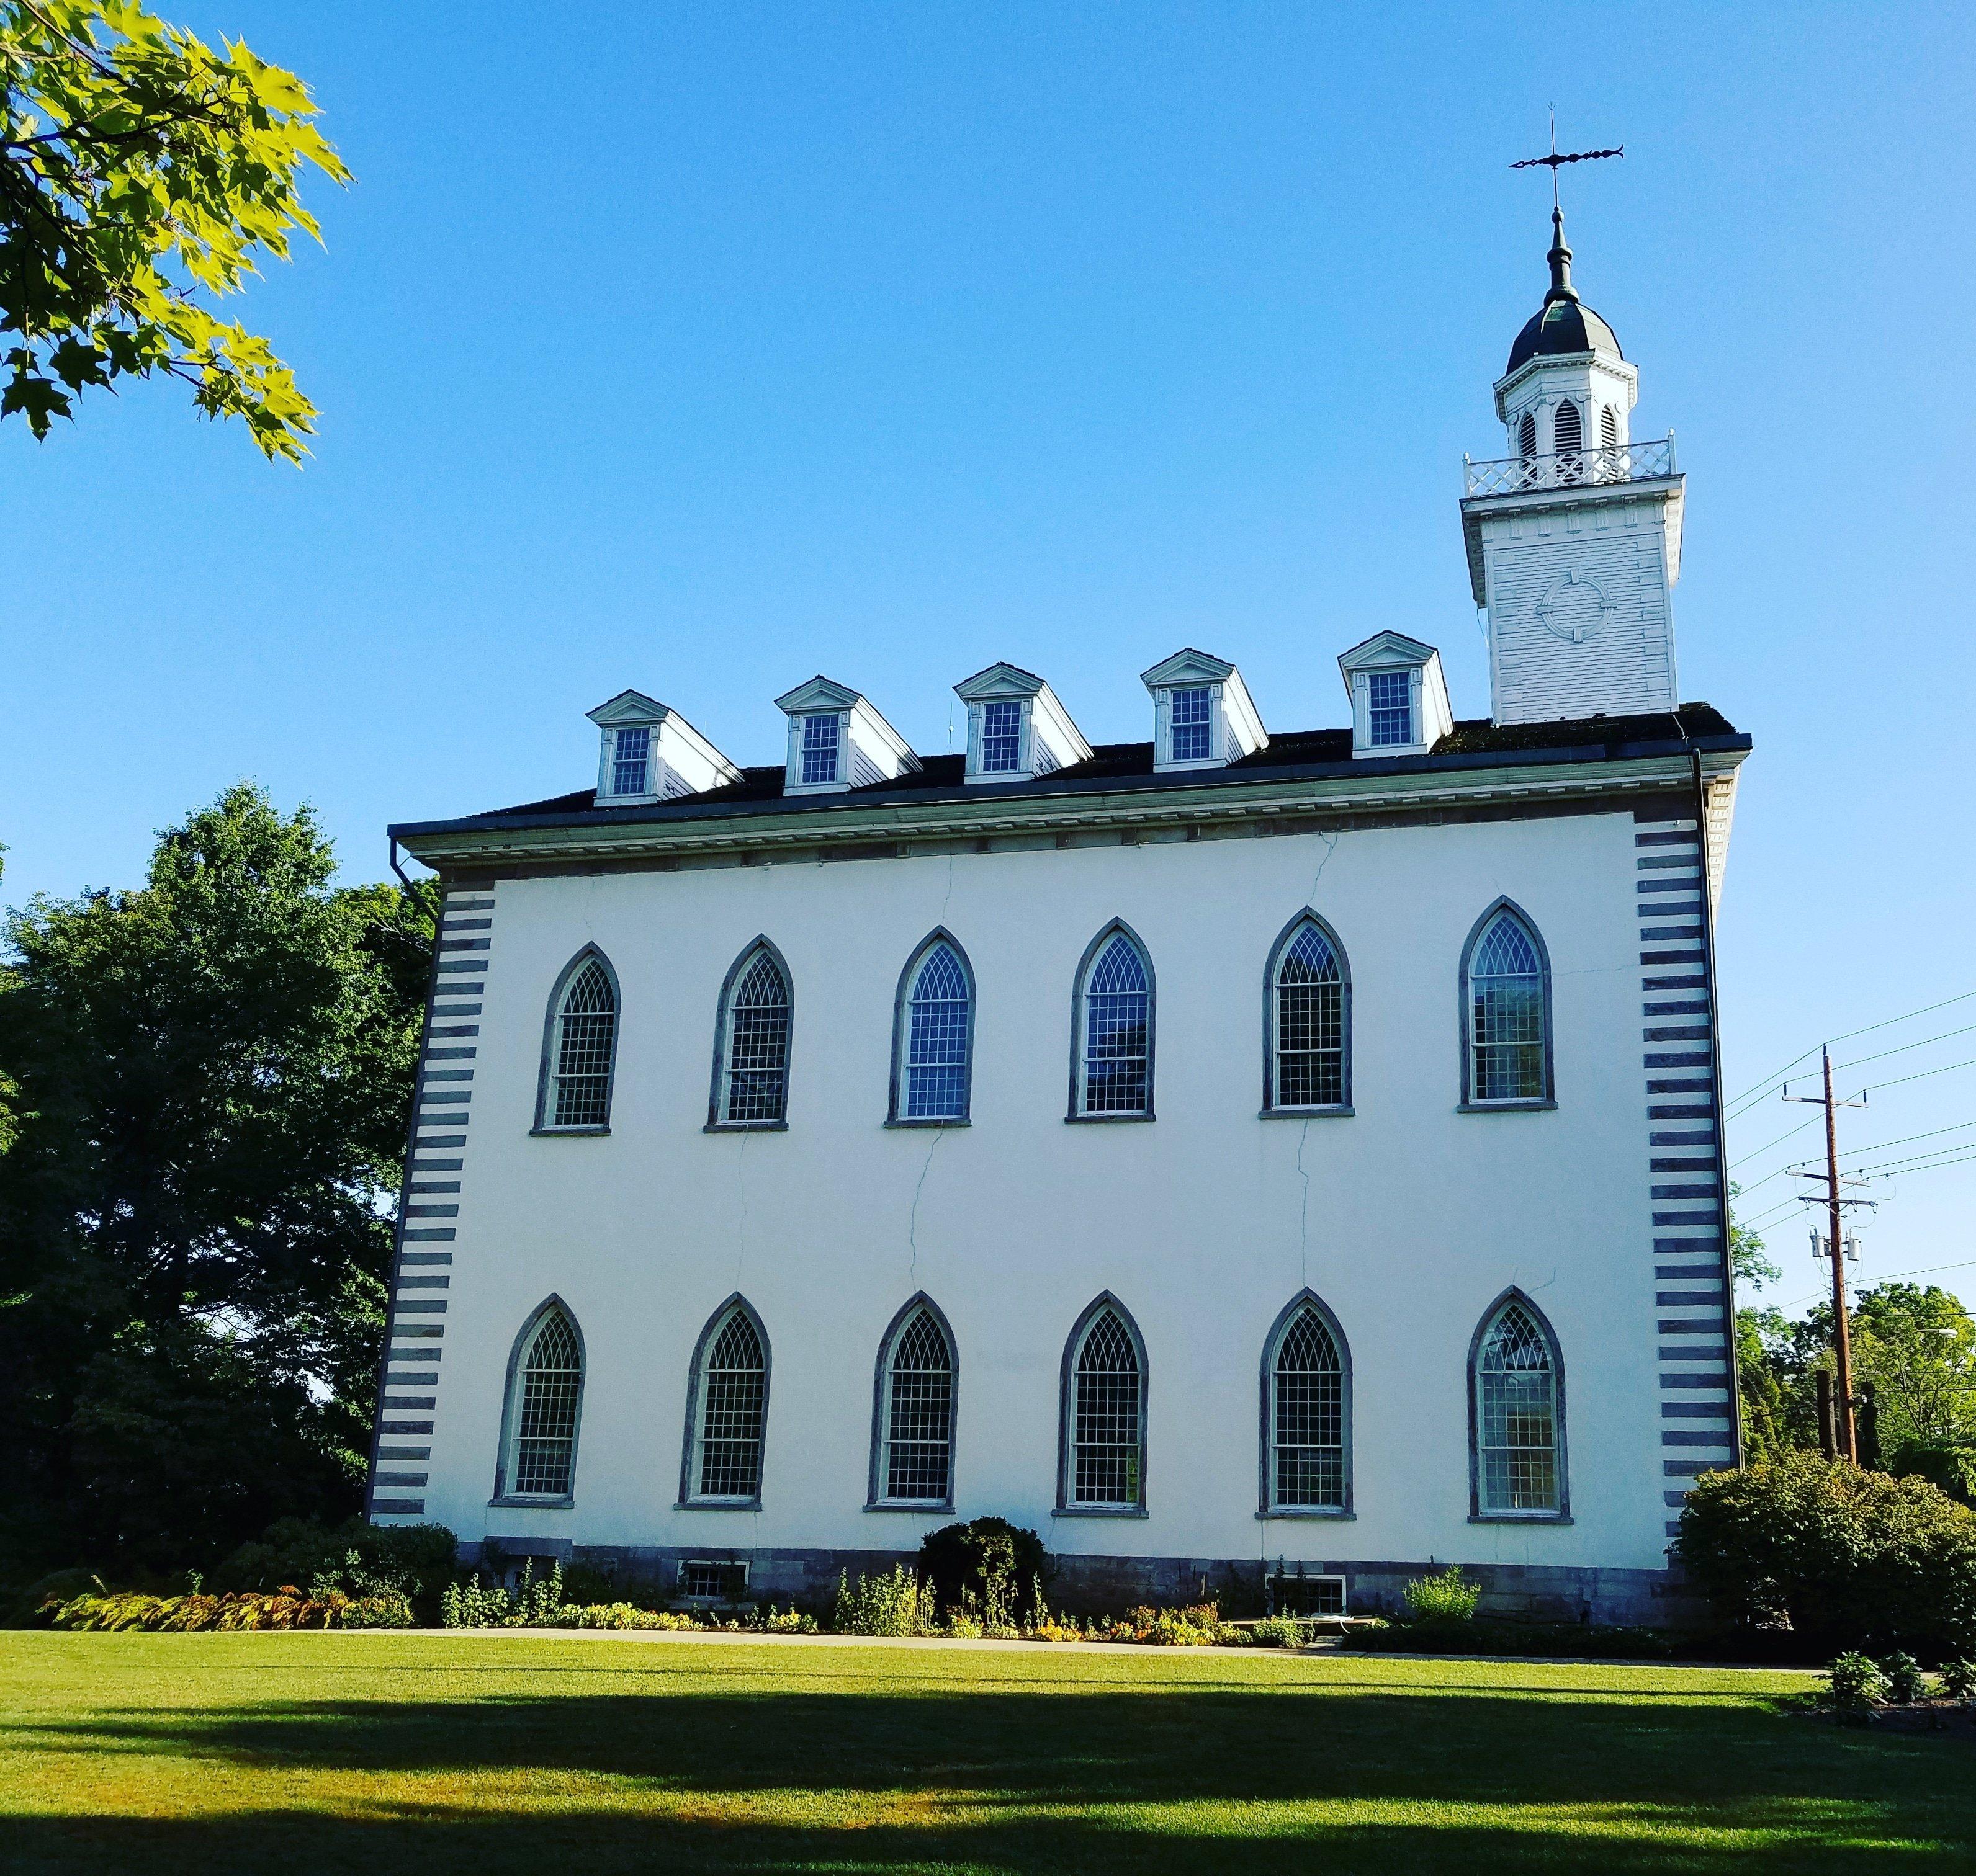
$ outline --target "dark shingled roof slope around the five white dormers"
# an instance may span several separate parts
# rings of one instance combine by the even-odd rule
[[[1684,703],[1680,711],[1656,711],[1644,717],[1571,717],[1561,723],[1508,723],[1496,725],[1486,717],[1456,723],[1433,750],[1425,756],[1385,756],[1407,768],[1433,768],[1446,758],[1514,754],[1516,750],[1585,750],[1589,760],[1610,758],[1630,744],[1680,744],[1715,737],[1735,737],[1731,725],[1707,703]],[[1361,758],[1363,760],[1363,758]],[[1221,778],[1247,780],[1263,778],[1278,770],[1310,772],[1326,764],[1354,768],[1352,731],[1348,729],[1302,729],[1271,737],[1253,756],[1229,762],[1227,768],[1184,768],[1154,774],[1150,743],[1099,743],[1091,750],[1089,762],[1073,762],[1035,782],[988,784],[1006,794],[1055,794],[1065,784],[1091,786],[1107,780],[1130,782],[1136,786],[1197,788],[1203,782]],[[864,788],[848,788],[830,796],[792,796],[790,806],[842,806],[846,802],[895,802],[911,796],[952,796],[964,786],[964,756],[923,756],[917,770],[907,770],[885,782],[867,782]],[[725,788],[709,788],[705,794],[678,796],[670,802],[642,808],[609,808],[597,802],[589,788],[575,794],[551,796],[545,802],[520,802],[514,808],[496,808],[490,814],[468,816],[470,821],[502,821],[510,816],[537,814],[583,814],[583,816],[622,816],[626,820],[664,818],[668,810],[690,808],[705,812],[721,806],[743,806],[755,802],[782,800],[782,770],[743,768],[739,782]]]

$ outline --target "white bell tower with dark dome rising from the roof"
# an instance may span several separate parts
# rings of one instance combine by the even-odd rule
[[[1684,478],[1632,440],[1640,373],[1577,296],[1551,211],[1551,288],[1496,381],[1510,454],[1464,464],[1462,537],[1488,612],[1496,723],[1672,711]]]

